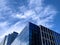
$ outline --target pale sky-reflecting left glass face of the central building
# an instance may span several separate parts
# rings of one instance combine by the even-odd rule
[[[23,31],[17,36],[11,45],[29,45],[29,26],[27,25]]]

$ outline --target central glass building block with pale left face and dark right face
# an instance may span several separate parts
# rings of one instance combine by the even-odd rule
[[[40,28],[28,23],[11,45],[41,45]]]

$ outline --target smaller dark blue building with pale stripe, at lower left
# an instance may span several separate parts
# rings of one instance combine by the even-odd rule
[[[11,45],[11,43],[15,40],[17,37],[18,33],[13,32],[12,34],[6,35],[0,45]]]

